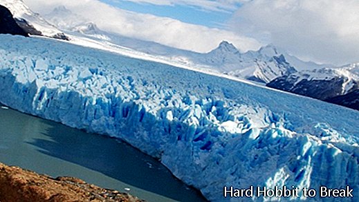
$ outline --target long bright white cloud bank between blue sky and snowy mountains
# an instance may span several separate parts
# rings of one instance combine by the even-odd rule
[[[167,17],[129,12],[97,0],[25,0],[25,3],[35,12],[42,14],[64,5],[90,19],[102,30],[201,53],[216,48],[222,40],[232,42],[242,51],[254,50],[260,46],[255,39],[227,30],[187,24]]]

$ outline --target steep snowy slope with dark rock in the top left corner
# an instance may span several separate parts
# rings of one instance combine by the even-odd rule
[[[62,31],[48,23],[39,14],[33,12],[22,0],[0,0],[0,5],[11,12],[17,24],[30,35],[43,35],[57,39],[68,39]]]

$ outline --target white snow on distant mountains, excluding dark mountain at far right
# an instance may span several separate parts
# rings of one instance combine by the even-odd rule
[[[73,44],[106,49],[117,53],[142,57],[146,55],[161,59],[165,64],[175,66],[191,66],[201,71],[222,73],[241,79],[255,80],[268,83],[276,77],[292,73],[293,70],[320,68],[319,64],[303,62],[289,55],[284,50],[268,45],[258,51],[240,53],[230,42],[222,42],[210,53],[194,53],[180,50],[154,42],[144,42],[139,39],[123,37],[116,33],[107,33],[88,19],[71,12],[65,6],[59,6],[43,17],[31,11],[21,0],[0,0],[17,18],[26,19],[46,37],[66,33]],[[56,26],[53,26],[53,24]],[[60,31],[61,29],[62,31]],[[282,62],[275,57],[284,57]],[[288,62],[288,63],[287,63]],[[292,69],[293,68],[293,69]]]

